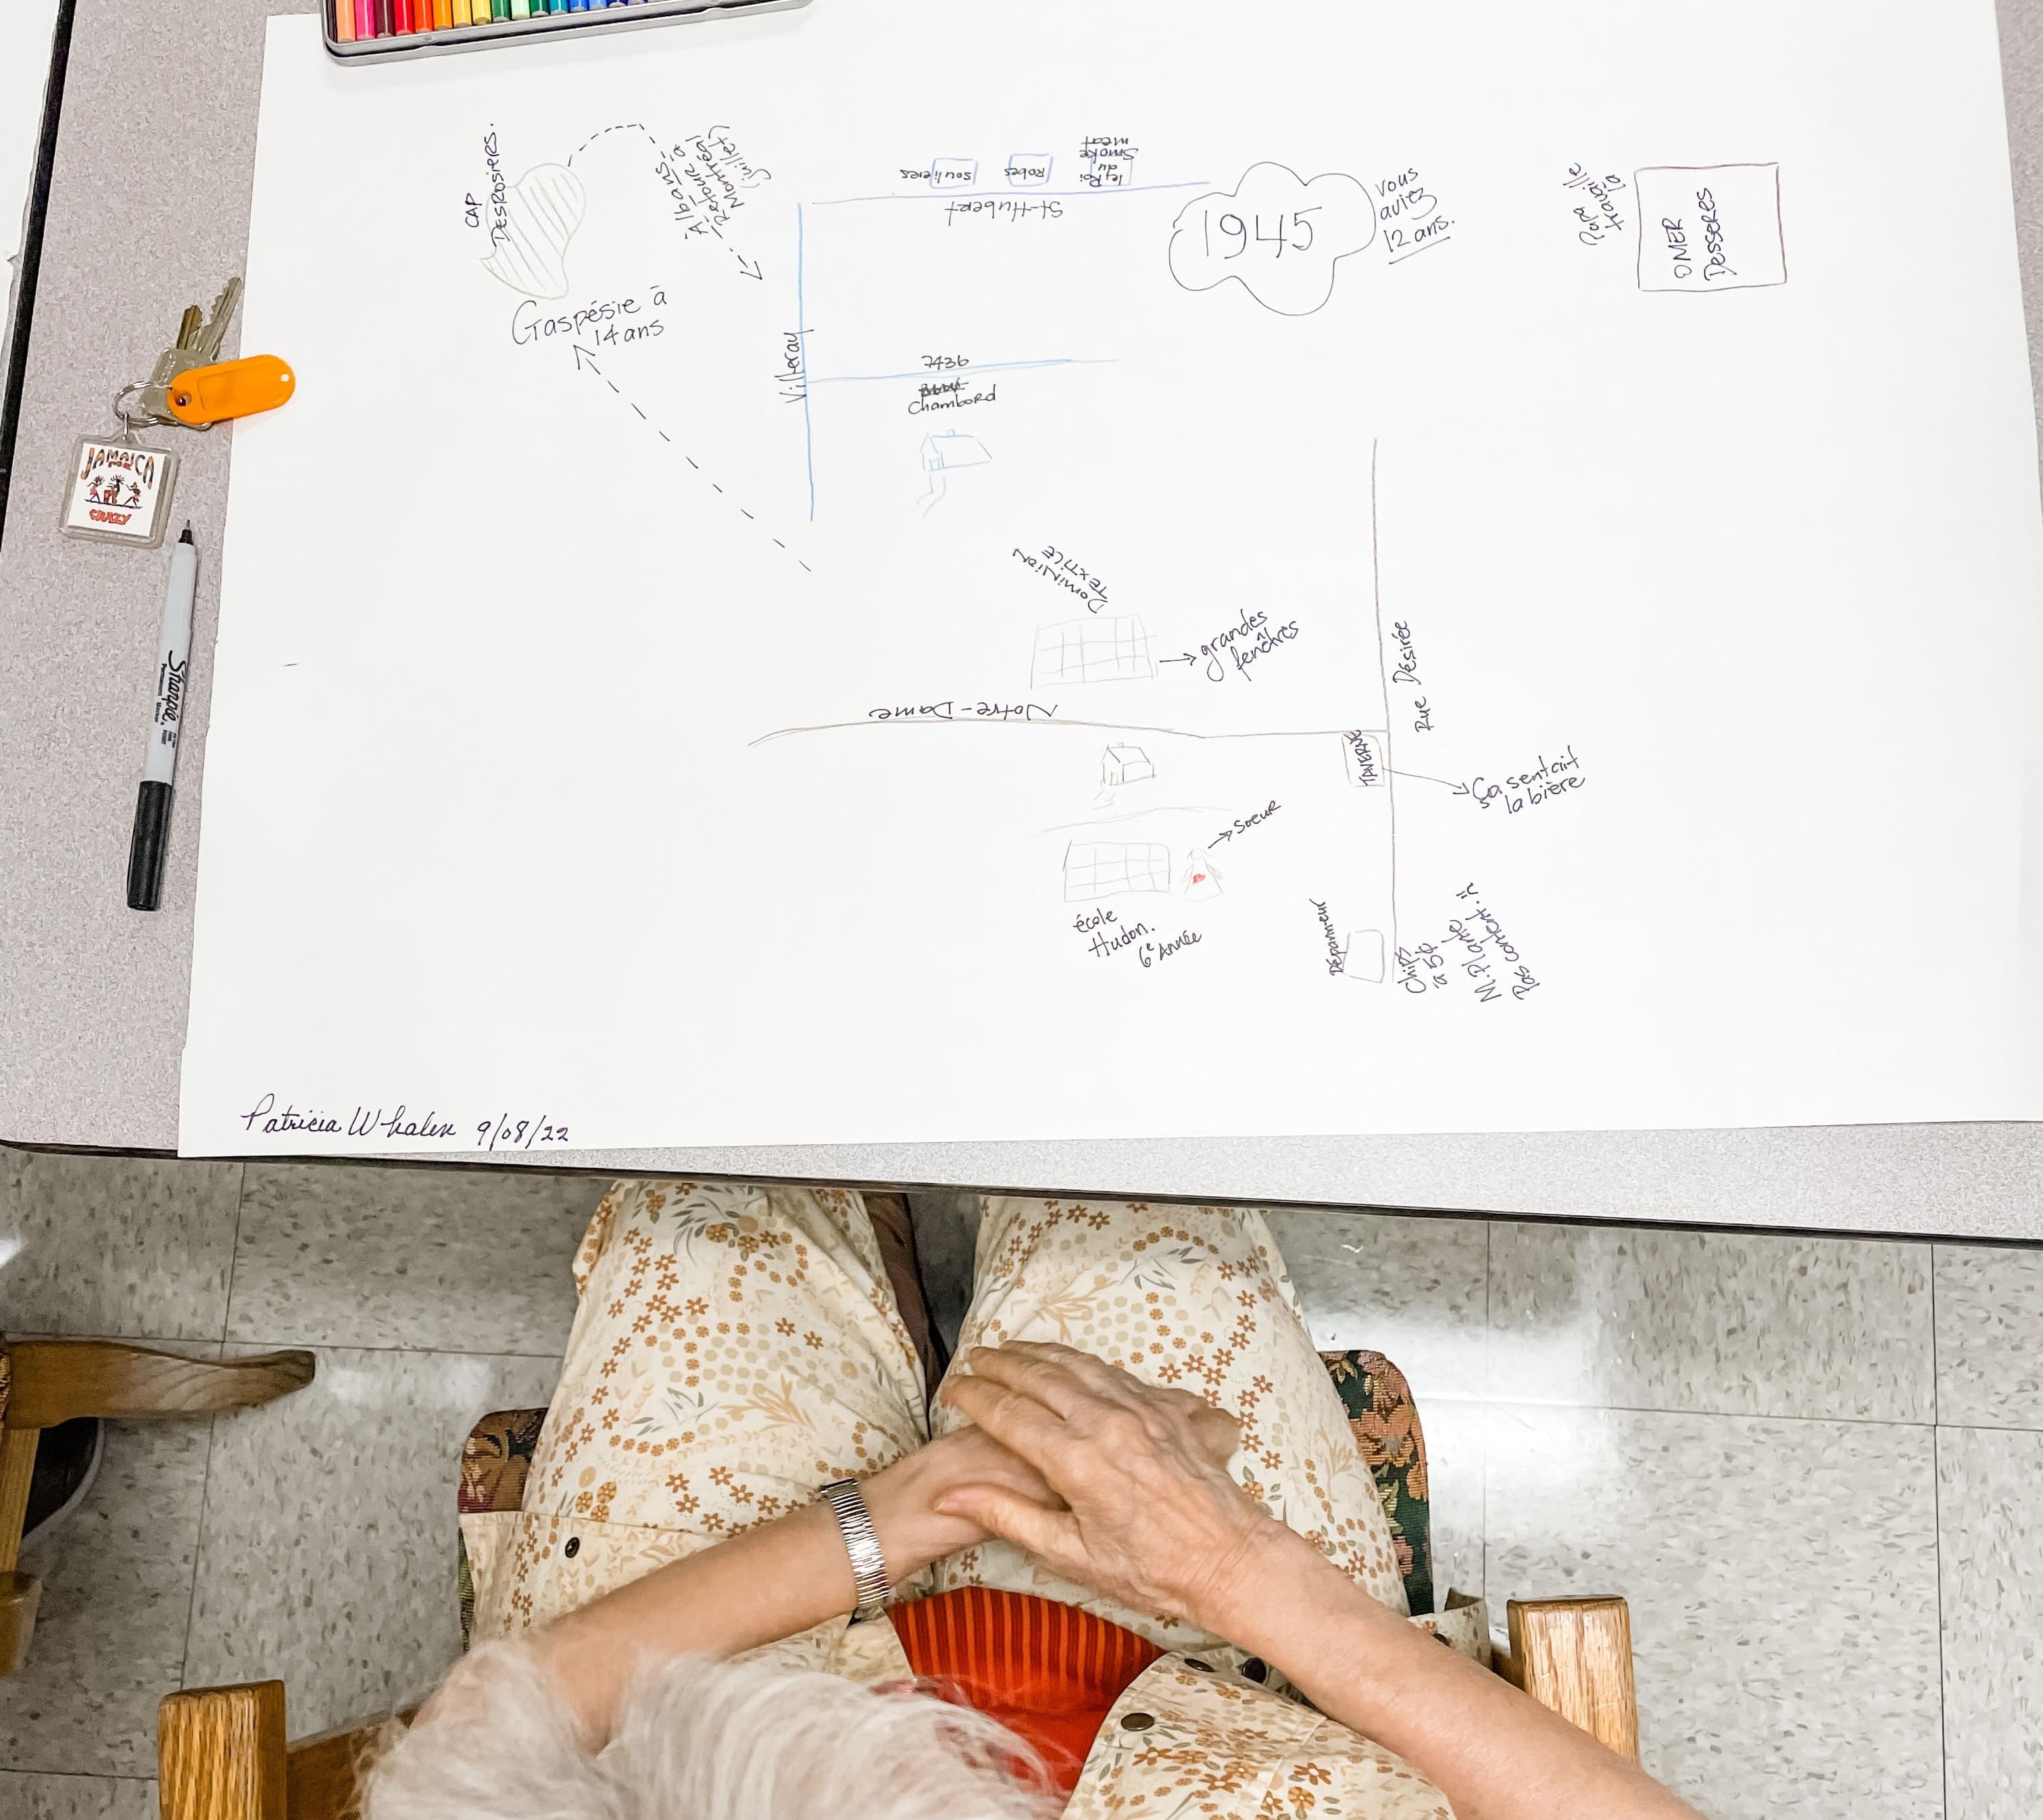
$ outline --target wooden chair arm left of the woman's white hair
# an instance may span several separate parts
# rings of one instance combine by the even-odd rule
[[[355,1820],[388,1718],[286,1744],[282,1681],[170,1693],[155,1722],[163,1820]]]

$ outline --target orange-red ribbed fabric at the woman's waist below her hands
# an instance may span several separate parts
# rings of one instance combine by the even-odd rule
[[[909,1667],[997,1718],[1042,1753],[1056,1785],[1079,1785],[1107,1710],[1162,1650],[1077,1606],[960,1587],[889,1612]]]

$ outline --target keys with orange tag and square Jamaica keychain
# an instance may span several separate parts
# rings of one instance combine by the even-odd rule
[[[210,313],[190,304],[149,378],[114,392],[121,427],[78,439],[57,525],[65,537],[153,549],[163,541],[178,456],[143,443],[141,431],[212,429],[231,417],[276,411],[296,390],[296,376],[274,353],[219,357],[239,304],[239,278],[227,280]]]

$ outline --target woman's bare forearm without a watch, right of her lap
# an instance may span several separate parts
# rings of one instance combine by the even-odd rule
[[[1395,1751],[1461,1820],[1698,1820],[1645,1771],[1387,1612],[1310,1546],[1214,1618],[1328,1718]]]

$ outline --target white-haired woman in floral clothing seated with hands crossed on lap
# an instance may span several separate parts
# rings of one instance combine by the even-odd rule
[[[1694,1820],[1408,1620],[1258,1213],[987,1201],[934,1420],[856,1193],[619,1183],[574,1271],[366,1820]]]

